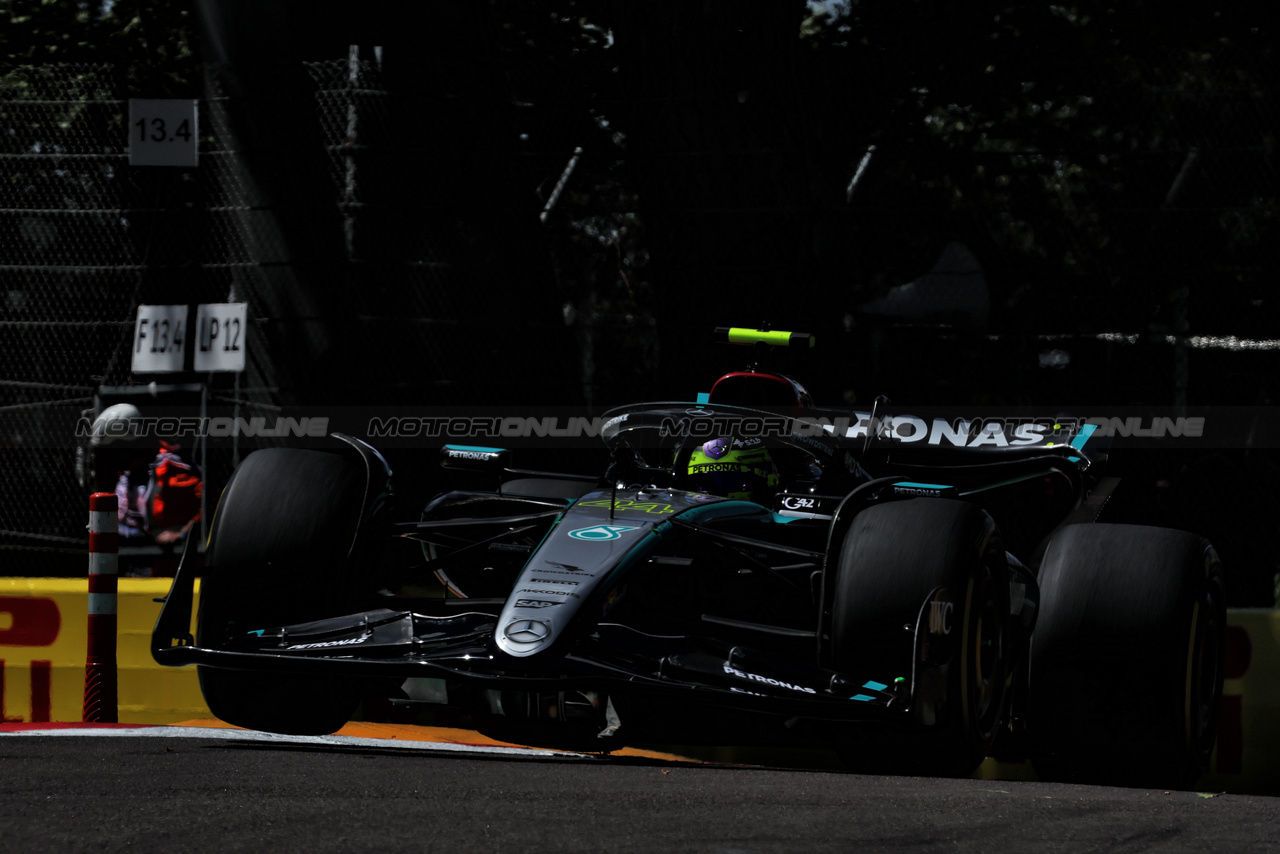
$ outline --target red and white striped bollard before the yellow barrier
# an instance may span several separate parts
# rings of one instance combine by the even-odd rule
[[[120,552],[115,493],[88,499],[88,656],[83,720],[115,723],[115,592]]]

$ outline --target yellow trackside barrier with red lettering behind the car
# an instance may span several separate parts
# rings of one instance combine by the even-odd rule
[[[210,717],[196,668],[161,667],[151,658],[151,629],[160,615],[154,599],[169,592],[169,580],[120,579],[119,585],[119,720],[175,723]],[[87,593],[84,579],[0,579],[0,722],[81,720]],[[198,606],[198,581],[196,595]],[[1217,750],[1202,790],[1280,793],[1277,676],[1280,612],[1230,611]],[[992,761],[980,775],[1030,778],[1025,766]]]

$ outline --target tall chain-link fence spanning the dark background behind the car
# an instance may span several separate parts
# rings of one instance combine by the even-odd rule
[[[434,52],[206,60],[192,169],[128,165],[110,65],[0,78],[8,572],[82,571],[92,469],[67,414],[160,406],[154,379],[246,415],[595,406],[705,391],[741,366],[708,330],[769,321],[819,334],[799,367],[827,403],[1277,392],[1261,41],[1116,55],[1052,91],[995,65],[950,104],[945,81],[851,86],[867,60],[782,42],[675,45],[659,73],[626,15],[617,41],[570,27],[556,67],[495,8]],[[890,82],[915,93],[888,104]],[[870,310],[940,257],[980,270],[980,318]],[[242,374],[132,374],[137,305],[224,301],[248,306]],[[204,449],[211,493],[251,447]],[[425,465],[397,462],[407,492]]]

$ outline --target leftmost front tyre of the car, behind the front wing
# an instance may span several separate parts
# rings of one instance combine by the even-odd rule
[[[218,506],[200,592],[197,643],[219,647],[255,629],[349,612],[348,554],[364,511],[355,458],[269,448],[236,470]],[[358,702],[356,682],[329,676],[197,667],[210,711],[251,730],[321,735]]]

